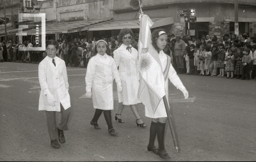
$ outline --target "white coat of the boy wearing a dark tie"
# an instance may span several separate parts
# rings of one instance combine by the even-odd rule
[[[54,57],[56,67],[52,58],[46,56],[38,66],[38,78],[41,86],[39,98],[39,110],[60,112],[60,103],[66,110],[70,107],[70,96],[68,93],[68,77],[65,62],[59,57]],[[45,94],[54,96],[54,107],[51,107]]]

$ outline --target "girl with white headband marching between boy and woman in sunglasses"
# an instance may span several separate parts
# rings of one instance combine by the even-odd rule
[[[108,124],[108,132],[112,136],[117,133],[112,125],[111,110],[114,109],[113,101],[113,78],[115,78],[118,92],[122,92],[121,79],[116,68],[113,57],[110,56],[108,43],[99,40],[95,43],[95,56],[93,56],[87,66],[86,71],[86,97],[91,98],[93,107],[96,109],[91,125],[95,129],[100,129],[97,121],[104,112],[104,117]]]

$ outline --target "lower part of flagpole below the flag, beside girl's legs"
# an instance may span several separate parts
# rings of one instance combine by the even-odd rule
[[[165,107],[165,110],[166,110],[166,114],[167,114],[167,117],[168,117],[169,126],[170,126],[171,133],[172,133],[173,144],[174,144],[174,147],[175,147],[176,151],[179,152],[180,149],[179,149],[178,140],[176,138],[175,126],[173,125],[173,122],[172,122],[172,115],[170,114],[169,105],[168,105],[168,102],[167,102],[166,95],[163,96],[163,100],[164,100],[164,107]]]

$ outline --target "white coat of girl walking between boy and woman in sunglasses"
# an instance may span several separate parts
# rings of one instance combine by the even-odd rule
[[[122,85],[115,61],[111,56],[97,54],[90,59],[85,82],[86,92],[92,92],[94,108],[114,109],[113,78],[115,78],[116,85]]]

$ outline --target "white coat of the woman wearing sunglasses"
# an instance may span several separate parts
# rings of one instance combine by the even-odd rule
[[[131,45],[130,45],[131,46]],[[118,92],[118,101],[123,105],[136,105],[140,101],[137,98],[139,89],[138,51],[122,44],[114,51],[116,66],[119,66],[119,75],[122,81],[123,91]]]

